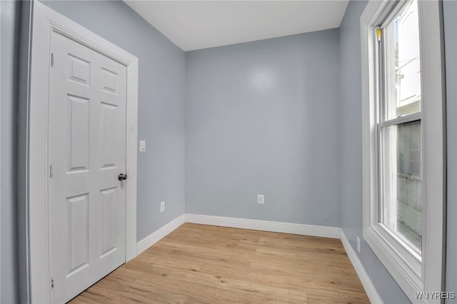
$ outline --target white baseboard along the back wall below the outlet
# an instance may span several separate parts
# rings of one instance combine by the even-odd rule
[[[244,218],[225,218],[221,216],[202,216],[199,214],[186,214],[186,223],[196,223],[231,228],[263,230],[300,235],[321,236],[323,238],[340,238],[341,228],[313,226],[294,223],[281,223],[272,221],[257,221]]]

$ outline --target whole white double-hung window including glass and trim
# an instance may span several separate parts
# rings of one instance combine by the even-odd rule
[[[415,303],[444,291],[441,22],[437,0],[369,1],[361,16],[363,237]]]

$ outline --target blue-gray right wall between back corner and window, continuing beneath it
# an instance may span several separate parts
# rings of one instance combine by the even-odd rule
[[[362,237],[362,116],[360,16],[365,1],[351,1],[340,26],[341,228],[356,250],[361,238],[363,267],[385,303],[409,300]]]

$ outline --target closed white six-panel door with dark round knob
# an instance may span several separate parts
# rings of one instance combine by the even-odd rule
[[[125,261],[126,66],[51,34],[49,265],[65,303]]]

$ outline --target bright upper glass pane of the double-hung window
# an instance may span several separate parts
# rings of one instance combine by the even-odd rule
[[[417,1],[411,1],[385,28],[386,117],[421,111],[421,66]]]

